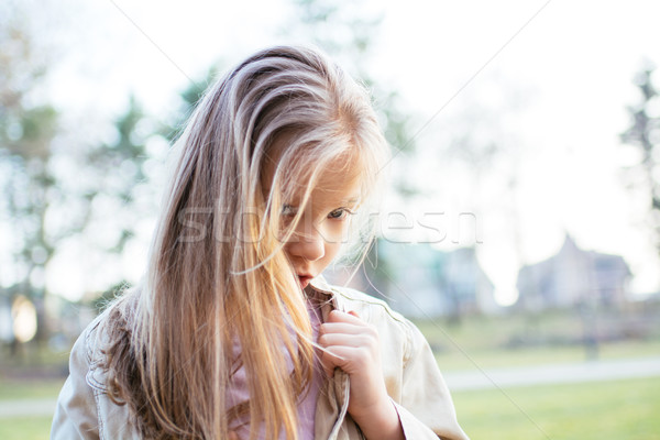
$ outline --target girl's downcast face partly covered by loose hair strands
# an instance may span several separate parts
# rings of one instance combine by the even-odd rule
[[[311,191],[305,207],[298,206],[300,197],[285,201],[282,221],[286,226],[299,209],[304,209],[293,235],[284,251],[294,265],[300,287],[319,275],[339,253],[348,239],[351,217],[360,198],[360,179],[356,173],[338,172],[329,167]]]

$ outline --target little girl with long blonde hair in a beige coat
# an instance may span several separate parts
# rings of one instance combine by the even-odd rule
[[[466,439],[419,330],[321,276],[373,235],[388,148],[362,87],[258,52],[174,151],[146,274],[74,345],[53,439]]]

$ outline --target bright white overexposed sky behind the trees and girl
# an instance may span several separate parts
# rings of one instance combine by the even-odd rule
[[[185,88],[186,76],[198,78],[219,61],[231,65],[255,48],[290,42],[273,36],[290,18],[284,0],[222,6],[196,0],[185,7],[155,0],[68,2],[55,19],[72,20],[75,12],[74,37],[67,40],[73,46],[65,51],[51,92],[74,120],[113,117],[131,90],[150,111],[162,112]],[[515,298],[519,263],[551,256],[564,231],[585,250],[623,255],[636,275],[634,292],[657,290],[660,262],[641,228],[644,200],[626,191],[618,176],[622,165],[630,163],[618,133],[628,124],[625,106],[638,101],[634,73],[645,57],[660,63],[660,4],[372,4],[384,19],[374,36],[372,72],[399,91],[405,110],[415,114],[414,132],[439,112],[417,138],[422,161],[413,168],[418,185],[431,194],[404,206],[410,216],[446,212],[448,239],[439,246],[472,244],[474,233],[466,233],[470,226],[458,219],[460,212],[474,212],[480,261],[504,302]],[[496,161],[483,169],[481,185],[474,168],[442,167],[449,163],[444,145],[458,135],[457,127],[475,139],[493,135],[495,144],[519,153],[518,162],[512,163],[513,155]],[[393,166],[403,166],[405,158],[397,158]],[[515,198],[503,179],[514,166]],[[142,237],[123,261],[87,253],[84,243],[64,245],[46,283],[75,299],[107,287],[118,274],[136,280],[151,227],[148,219],[141,224]],[[10,283],[11,275],[3,273],[0,280]]]

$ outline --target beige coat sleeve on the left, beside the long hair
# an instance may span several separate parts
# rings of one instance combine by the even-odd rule
[[[57,398],[51,428],[52,440],[98,439],[98,407],[95,389],[86,382],[89,371],[89,329],[78,338],[69,358],[69,376]]]

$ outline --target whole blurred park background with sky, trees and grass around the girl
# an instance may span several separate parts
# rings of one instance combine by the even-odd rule
[[[366,82],[393,148],[350,283],[422,329],[465,431],[660,438],[659,9],[3,2],[0,437],[47,436],[70,344],[142,275],[208,81],[304,43]]]

